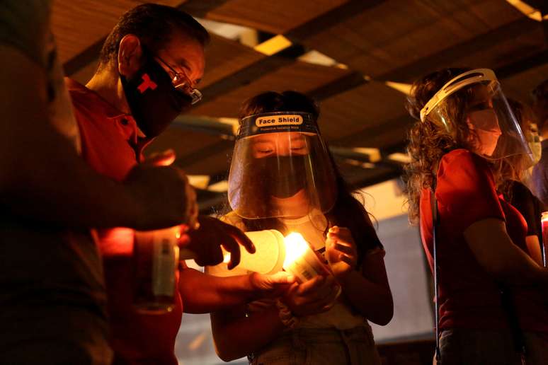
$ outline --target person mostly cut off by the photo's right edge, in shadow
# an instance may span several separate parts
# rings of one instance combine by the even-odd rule
[[[532,171],[533,192],[544,203],[548,204],[548,80],[544,80],[531,92],[538,122],[538,131],[542,139],[542,154]],[[535,153],[535,151],[533,151]]]

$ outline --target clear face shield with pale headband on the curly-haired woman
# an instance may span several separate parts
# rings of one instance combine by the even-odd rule
[[[467,125],[472,151],[489,160],[518,154],[532,159],[520,124],[490,69],[467,71],[445,83],[421,110],[421,120],[454,136],[457,125]]]

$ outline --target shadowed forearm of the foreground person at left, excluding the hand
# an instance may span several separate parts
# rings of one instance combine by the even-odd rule
[[[73,227],[137,227],[138,207],[120,183],[93,172],[74,151],[64,156],[26,156],[9,181],[1,200],[16,215]]]

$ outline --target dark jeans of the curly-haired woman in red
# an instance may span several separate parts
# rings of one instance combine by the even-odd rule
[[[525,332],[527,365],[548,364],[548,336]],[[452,328],[440,336],[442,365],[521,365],[510,330]]]

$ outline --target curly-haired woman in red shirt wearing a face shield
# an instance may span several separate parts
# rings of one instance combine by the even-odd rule
[[[437,282],[442,364],[548,364],[548,271],[499,197],[503,163],[530,158],[493,71],[444,69],[413,84],[411,221]]]

